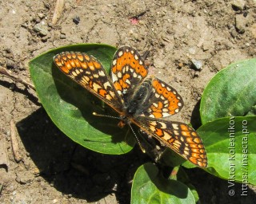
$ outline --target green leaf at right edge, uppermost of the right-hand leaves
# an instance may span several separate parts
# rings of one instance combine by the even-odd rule
[[[238,61],[222,69],[202,94],[202,124],[225,116],[255,114],[256,58]]]

